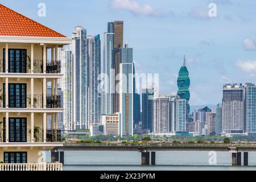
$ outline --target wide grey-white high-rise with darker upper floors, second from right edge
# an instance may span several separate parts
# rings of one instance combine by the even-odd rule
[[[243,133],[243,86],[225,84],[222,98],[222,131],[226,134]]]

